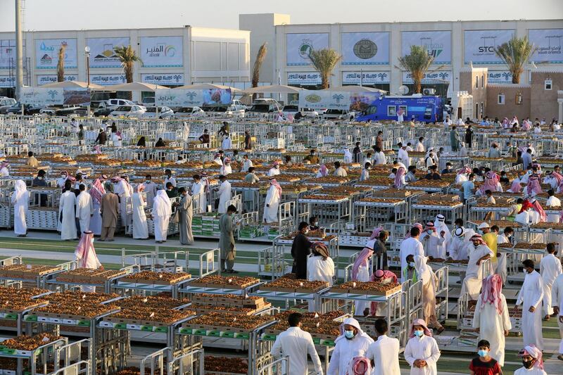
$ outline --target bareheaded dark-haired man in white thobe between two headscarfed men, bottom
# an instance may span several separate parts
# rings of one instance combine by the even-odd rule
[[[385,319],[377,319],[374,324],[377,341],[367,348],[367,359],[372,361],[372,375],[400,375],[399,341],[387,336],[388,325]]]

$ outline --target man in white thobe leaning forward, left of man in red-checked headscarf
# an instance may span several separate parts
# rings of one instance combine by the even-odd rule
[[[469,293],[469,299],[476,300],[481,292],[481,284],[483,279],[488,277],[488,274],[483,272],[481,262],[483,260],[491,259],[493,251],[486,245],[485,241],[480,234],[474,234],[471,241],[473,248],[469,246],[469,262],[467,263],[467,272],[462,284],[462,291],[460,295]]]

